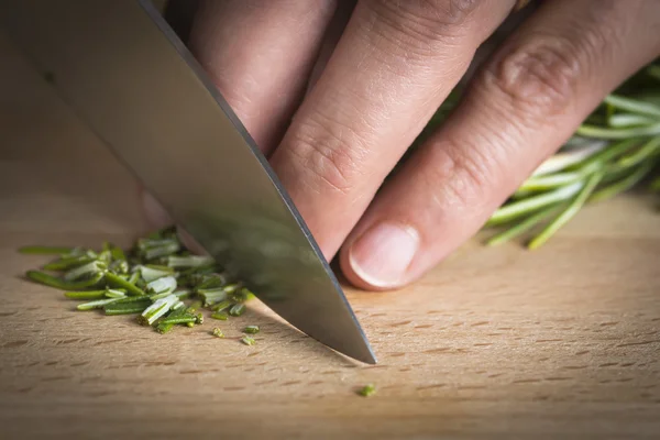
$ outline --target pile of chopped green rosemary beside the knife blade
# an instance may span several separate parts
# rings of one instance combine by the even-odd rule
[[[56,255],[41,271],[28,271],[26,276],[65,290],[67,298],[81,301],[78,310],[138,315],[139,323],[161,333],[176,326],[201,324],[201,308],[211,310],[215,319],[239,317],[246,309],[245,302],[254,298],[211,257],[185,249],[173,227],[138,240],[127,252],[111,243],[105,243],[100,251],[26,246],[20,252]],[[256,326],[248,329],[258,331]],[[222,332],[218,329],[215,334]]]

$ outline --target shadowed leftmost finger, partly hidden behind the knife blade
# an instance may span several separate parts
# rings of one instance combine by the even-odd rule
[[[205,0],[190,50],[266,154],[279,142],[336,0]]]

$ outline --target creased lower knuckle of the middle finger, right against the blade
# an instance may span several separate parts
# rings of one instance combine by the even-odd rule
[[[318,193],[348,195],[361,180],[363,140],[350,127],[329,121],[320,113],[297,127],[288,151],[307,176],[306,184]]]

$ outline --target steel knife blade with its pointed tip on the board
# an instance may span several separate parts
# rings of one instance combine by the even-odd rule
[[[292,326],[370,343],[266,158],[147,0],[0,0],[10,42],[176,223]]]

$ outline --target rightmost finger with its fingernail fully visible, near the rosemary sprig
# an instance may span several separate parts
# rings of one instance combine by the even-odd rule
[[[417,279],[474,234],[625,78],[660,53],[656,0],[542,3],[387,185],[341,252],[354,284]]]

